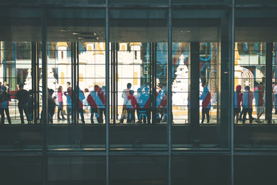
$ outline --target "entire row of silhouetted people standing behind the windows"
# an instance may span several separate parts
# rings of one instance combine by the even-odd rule
[[[57,107],[57,120],[67,120],[67,123],[71,123],[72,119],[72,108],[73,108],[73,89],[71,88],[71,83],[67,82],[67,89],[63,91],[62,86],[57,89],[57,96],[53,96],[55,93],[53,89],[48,89],[48,120],[49,123],[53,123],[53,116],[55,114],[55,109]],[[251,91],[249,86],[244,87],[242,91],[242,86],[238,85],[234,93],[234,118],[235,123],[242,121],[244,124],[247,120],[247,114],[249,115],[249,122],[252,123],[253,120],[256,123],[262,123],[260,117],[265,113],[265,87],[262,82],[259,84],[255,82],[253,91]],[[121,97],[123,98],[123,109],[120,116],[120,122],[123,123],[125,119],[127,123],[148,123],[150,124],[151,115],[154,116],[154,123],[166,122],[167,118],[167,91],[166,85],[157,85],[156,90],[156,109],[150,108],[150,88],[148,86],[143,86],[137,89],[136,94],[132,90],[132,84],[128,83],[127,88],[123,89]],[[20,121],[24,124],[24,114],[28,123],[33,123],[33,91],[27,91],[24,89],[24,85],[18,85],[16,93],[13,93],[9,89],[7,82],[1,85],[0,82],[0,114],[1,114],[1,124],[5,122],[5,114],[9,124],[11,124],[11,118],[9,113],[9,103],[12,98],[18,100],[18,110],[20,114]],[[103,123],[105,112],[105,86],[99,87],[94,85],[94,88],[89,91],[89,89],[84,89],[82,91],[79,89],[77,91],[78,105],[76,108],[78,110],[78,117],[82,123],[84,121],[84,107],[89,109],[91,123],[97,120],[98,123]],[[64,98],[66,99],[66,105],[64,104]],[[202,121],[206,118],[206,123],[210,122],[210,109],[211,109],[211,93],[208,87],[204,87],[204,91],[200,94],[199,99],[202,100]],[[255,107],[257,112],[257,118],[253,118],[253,100],[255,100]],[[76,102],[76,101],[75,101]],[[273,105],[276,109],[275,114],[277,114],[277,84],[273,85]],[[64,110],[66,107],[66,110]],[[41,114],[42,115],[42,114]],[[66,117],[65,117],[66,116]],[[136,121],[137,118],[137,122]],[[42,121],[42,116],[40,118]]]

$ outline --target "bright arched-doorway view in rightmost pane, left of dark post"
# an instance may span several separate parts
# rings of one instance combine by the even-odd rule
[[[235,43],[235,123],[265,123],[265,43]]]

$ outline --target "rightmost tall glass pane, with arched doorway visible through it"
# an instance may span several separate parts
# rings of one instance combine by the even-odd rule
[[[234,137],[238,150],[276,148],[276,35],[271,27],[276,18],[268,21],[273,12],[271,8],[235,12]]]

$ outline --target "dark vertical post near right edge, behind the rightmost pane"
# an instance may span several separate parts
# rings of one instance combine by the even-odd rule
[[[271,123],[272,119],[272,55],[273,43],[267,42],[266,51],[266,80],[265,80],[265,119],[267,123]]]

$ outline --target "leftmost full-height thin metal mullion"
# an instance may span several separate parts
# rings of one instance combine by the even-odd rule
[[[47,159],[47,123],[48,123],[48,96],[47,96],[47,58],[46,58],[46,20],[44,1],[42,1],[42,155],[43,170],[42,184],[47,184],[48,159]]]

